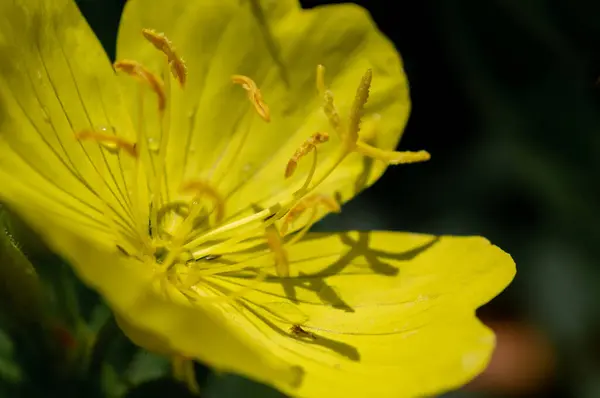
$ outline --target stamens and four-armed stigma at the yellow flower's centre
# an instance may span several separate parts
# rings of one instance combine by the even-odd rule
[[[333,151],[328,167],[318,167],[319,148],[328,144],[327,132],[315,132],[290,157],[282,179],[296,172],[297,165],[311,156],[312,163],[302,186],[268,208],[255,208],[252,214],[241,218],[227,217],[226,196],[208,181],[194,179],[184,181],[179,189],[180,200],[171,200],[166,184],[166,154],[171,134],[171,79],[185,89],[187,69],[177,55],[172,43],[164,34],[144,29],[143,36],[165,57],[165,68],[159,77],[132,60],[120,60],[114,64],[117,71],[139,82],[139,115],[135,142],[104,131],[83,131],[76,136],[80,140],[96,141],[105,150],[122,151],[135,162],[132,177],[131,204],[136,216],[135,224],[126,230],[114,226],[118,249],[125,255],[136,257],[144,263],[153,264],[155,273],[171,282],[186,297],[206,298],[196,287],[211,275],[241,271],[244,264],[213,264],[214,260],[228,254],[265,245],[264,255],[272,256],[273,270],[279,277],[290,276],[290,264],[286,247],[298,242],[317,220],[318,209],[339,212],[340,204],[331,197],[318,192],[319,187],[334,170],[353,152],[360,153],[387,164],[420,162],[429,159],[425,151],[395,152],[371,146],[359,138],[361,120],[369,97],[372,72],[363,75],[347,119],[343,119],[334,104],[333,93],[325,85],[325,68],[317,67],[316,82],[323,98],[323,112],[331,129],[340,138]],[[234,75],[233,84],[246,91],[250,105],[266,123],[271,121],[269,107],[256,83],[247,76]],[[160,126],[158,142],[151,142],[144,129],[144,90],[156,96],[156,109]],[[374,127],[372,127],[374,128]],[[375,131],[363,131],[372,136]],[[244,140],[242,140],[243,142]],[[184,148],[185,149],[185,148]],[[308,217],[305,215],[308,213]],[[303,223],[299,224],[302,219]],[[125,238],[125,239],[123,239]],[[255,284],[266,277],[265,271],[256,271]],[[251,286],[253,286],[251,284]],[[238,297],[243,290],[229,294],[228,299]]]

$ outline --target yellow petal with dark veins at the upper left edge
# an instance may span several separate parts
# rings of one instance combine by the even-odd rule
[[[0,197],[91,239],[130,233],[130,165],[75,136],[131,133],[100,43],[71,0],[3,1],[0,13]]]

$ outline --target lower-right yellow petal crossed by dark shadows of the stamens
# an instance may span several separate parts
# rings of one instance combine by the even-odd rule
[[[515,273],[480,237],[313,234],[288,256],[295,276],[267,278],[237,308],[254,344],[303,368],[299,390],[271,381],[299,397],[429,396],[466,383],[494,347],[475,309]],[[272,272],[268,252],[225,259]],[[230,294],[253,278],[207,283]]]

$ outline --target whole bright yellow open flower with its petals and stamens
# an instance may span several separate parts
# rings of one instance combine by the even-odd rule
[[[407,83],[364,10],[130,0],[113,67],[72,0],[0,11],[0,198],[134,342],[300,397],[422,396],[485,367],[474,311],[507,254],[307,233],[429,157],[392,152]]]

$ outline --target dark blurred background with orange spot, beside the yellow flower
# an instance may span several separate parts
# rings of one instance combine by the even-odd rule
[[[124,2],[78,1],[109,54]],[[518,274],[480,310],[498,336],[492,363],[448,396],[600,397],[600,1],[357,3],[404,58],[413,111],[401,147],[432,160],[389,169],[318,228],[487,237]],[[134,362],[148,379],[165,365]],[[209,397],[280,397],[197,370]],[[166,396],[160,383],[129,397]]]

